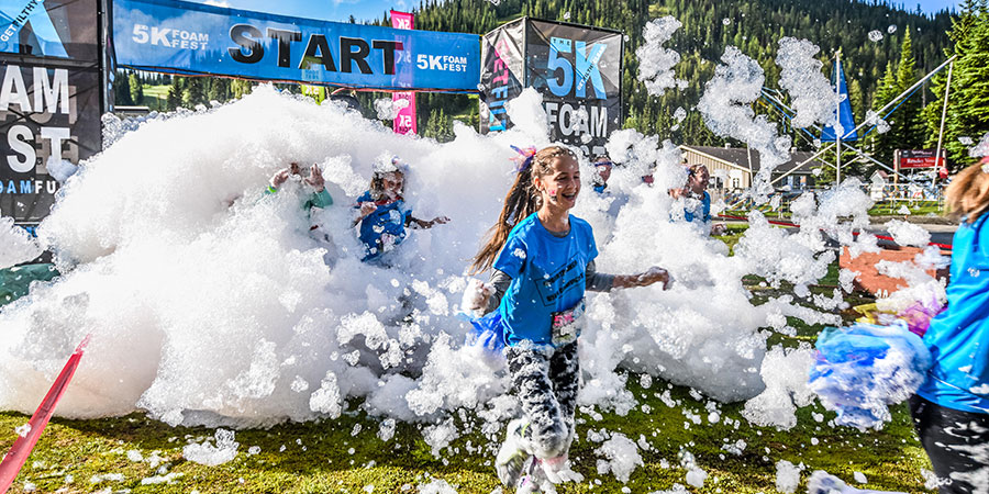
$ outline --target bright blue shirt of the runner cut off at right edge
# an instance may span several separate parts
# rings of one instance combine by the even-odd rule
[[[963,222],[952,245],[947,308],[924,335],[934,364],[918,390],[948,408],[989,413],[989,228]]]

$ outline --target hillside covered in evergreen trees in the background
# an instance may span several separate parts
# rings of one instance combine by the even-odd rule
[[[781,37],[807,38],[820,46],[819,57],[825,64],[825,74],[830,74],[833,54],[841,49],[856,122],[865,119],[869,109],[882,106],[938,66],[957,52],[957,46],[965,47],[969,55],[975,56],[969,56],[969,68],[966,70],[959,70],[959,58],[953,88],[960,87],[956,85],[962,85],[964,78],[968,92],[973,93],[969,99],[978,101],[979,81],[989,81],[989,77],[979,79],[971,72],[989,67],[986,64],[989,59],[979,58],[989,57],[989,48],[982,40],[989,36],[986,33],[989,31],[986,0],[967,0],[962,5],[960,16],[952,16],[947,12],[927,16],[885,2],[852,0],[502,0],[497,4],[487,0],[429,0],[420,3],[413,12],[416,29],[429,31],[484,34],[522,15],[620,30],[627,35],[622,75],[624,125],[677,143],[724,143],[703,125],[693,108],[729,45],[737,46],[759,63],[766,74],[766,86],[770,89],[778,87],[779,67],[774,60]],[[644,25],[664,15],[673,15],[684,24],[665,46],[681,55],[675,69],[677,77],[687,81],[687,87],[668,90],[657,98],[649,96],[636,79],[637,59],[634,54],[643,41]],[[390,25],[390,20],[385,13],[375,23]],[[866,139],[866,148],[889,162],[893,148],[936,144],[945,72],[890,115],[889,132],[871,133]],[[122,79],[126,77],[119,78]],[[193,82],[196,79],[171,79],[168,109],[205,103],[211,99],[223,101],[244,90],[236,82],[221,79],[200,82]],[[134,91],[131,88],[125,92]],[[358,98],[369,104],[384,96],[362,93]],[[952,100],[953,105],[965,101],[960,94]],[[951,143],[946,144],[956,161],[967,162],[964,156],[967,148],[958,141],[959,137],[970,136],[976,141],[981,137],[981,134],[975,133],[986,126],[981,124],[979,127],[978,119],[989,121],[986,114],[989,111],[989,96],[984,103],[981,113],[966,113],[958,108],[949,111],[959,115],[948,119]],[[476,97],[420,93],[418,104],[419,128],[423,135],[440,139],[451,137],[451,120],[454,117],[470,125],[477,124]],[[687,110],[682,122],[674,117],[678,108]],[[757,110],[781,119],[768,106]],[[813,146],[812,139],[798,138],[797,134],[794,145],[802,148]]]

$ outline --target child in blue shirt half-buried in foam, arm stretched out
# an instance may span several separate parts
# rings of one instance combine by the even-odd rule
[[[378,165],[371,176],[370,188],[357,198],[358,210],[354,225],[358,226],[358,238],[364,243],[363,261],[380,259],[381,256],[405,239],[405,227],[432,228],[449,221],[437,216],[431,221],[412,216],[412,209],[405,204],[405,171],[408,166],[397,157],[390,164]]]

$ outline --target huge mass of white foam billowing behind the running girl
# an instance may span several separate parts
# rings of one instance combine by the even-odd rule
[[[749,105],[763,79],[754,60],[730,47],[698,105],[719,135],[762,153],[766,175],[755,197],[789,149]],[[395,434],[395,420],[429,423],[422,433],[438,453],[460,434],[448,418],[465,409],[496,438],[516,402],[503,362],[464,345],[464,270],[513,180],[510,145],[549,144],[534,90],[507,108],[513,130],[480,136],[455,124],[446,144],[400,136],[340,103],[316,105],[265,86],[232,104],[116,125],[122,135],[68,179],[40,227],[64,276],[0,313],[0,409],[33,411],[75,345],[92,334],[62,416],[144,409],[173,425],[249,427],[335,418],[362,398],[364,411],[386,419],[382,440]],[[870,245],[851,233],[862,226],[867,195],[849,180],[800,198],[793,212],[801,228],[791,235],[754,213],[737,255],[729,256],[722,242],[678,220],[685,199],[667,191],[682,187],[686,172],[673,143],[619,131],[607,148],[623,164],[611,195],[587,188],[574,211],[594,228],[598,269],[662,266],[675,282],[668,291],[589,294],[580,404],[634,408],[625,388],[631,370],[723,402],[759,395],[746,406],[749,419],[796,420],[804,390],[791,378],[807,363],[804,350],[774,349],[769,361],[777,364],[767,366],[771,332],[760,328],[792,333],[787,317],[835,324],[837,316],[790,295],[754,305],[742,277],[793,283],[798,296],[824,304],[807,290],[833,260],[824,236],[853,249],[875,247],[875,237]],[[411,164],[405,199],[415,216],[451,222],[412,232],[390,267],[364,263],[352,206],[374,162],[393,155]],[[334,205],[310,220],[300,183],[265,194],[270,176],[290,161],[319,164]],[[587,157],[580,165],[589,182]],[[649,172],[653,187],[641,180]],[[609,214],[619,199],[624,206]],[[311,236],[312,224],[332,243]],[[841,303],[840,293],[833,300],[829,307]],[[187,453],[212,458],[219,453],[207,449],[220,448],[215,442],[190,445],[199,450]],[[236,447],[223,451],[236,454]],[[624,476],[634,459],[618,454],[609,469]],[[702,472],[688,483],[702,484]]]

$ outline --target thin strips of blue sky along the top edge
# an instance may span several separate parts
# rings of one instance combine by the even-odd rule
[[[346,21],[351,15],[358,21],[380,19],[390,10],[409,11],[419,7],[419,0],[190,0],[198,3],[211,3],[234,9],[270,12],[295,18],[320,19],[325,21]],[[909,10],[919,4],[926,13],[943,9],[954,9],[956,0],[893,0]]]

